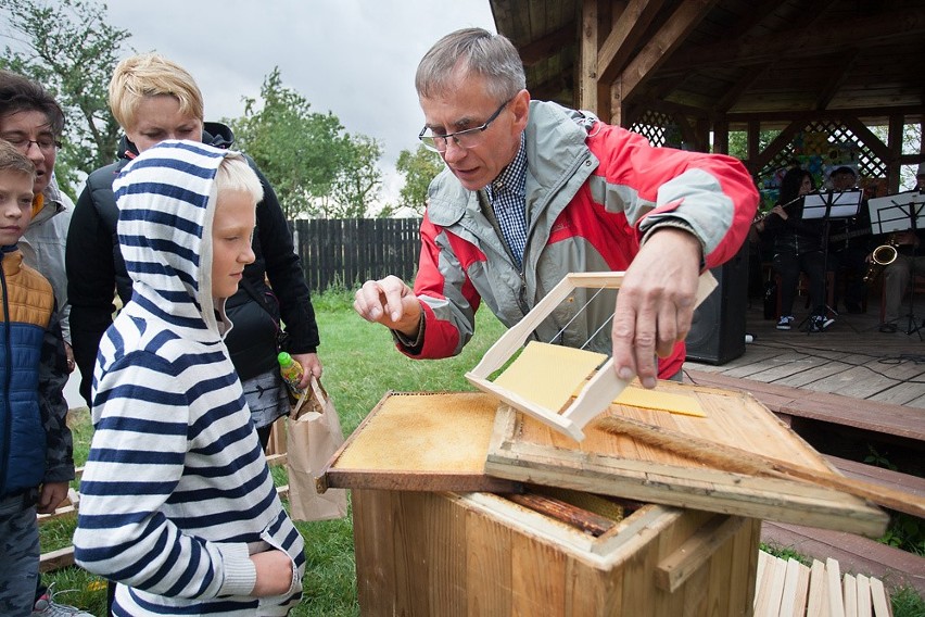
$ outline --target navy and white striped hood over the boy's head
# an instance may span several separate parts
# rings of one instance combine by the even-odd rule
[[[188,327],[218,331],[212,298],[215,175],[239,152],[168,140],[145,150],[113,182],[118,241],[132,301],[147,302]]]

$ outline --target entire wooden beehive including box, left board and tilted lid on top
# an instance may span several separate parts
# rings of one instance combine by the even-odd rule
[[[748,395],[659,388],[696,396],[707,418],[622,413],[827,470]],[[837,491],[715,470],[588,428],[576,444],[498,411],[487,393],[388,393],[319,479],[322,489],[353,491],[363,614],[749,615],[762,518],[867,533],[885,524],[880,511]],[[588,534],[516,496],[563,489],[637,500],[638,508]]]

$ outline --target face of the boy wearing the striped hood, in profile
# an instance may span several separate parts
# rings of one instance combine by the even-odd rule
[[[251,237],[256,202],[250,193],[220,191],[212,223],[212,295],[230,298],[238,291],[244,266],[254,261]]]

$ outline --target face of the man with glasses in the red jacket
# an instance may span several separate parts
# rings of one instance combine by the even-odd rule
[[[481,126],[504,101],[491,97],[480,76],[461,75],[440,96],[420,99],[425,124],[435,136]],[[476,146],[461,148],[453,139],[441,153],[449,171],[469,190],[494,180],[517,155],[527,126],[530,95],[521,90],[479,136]]]

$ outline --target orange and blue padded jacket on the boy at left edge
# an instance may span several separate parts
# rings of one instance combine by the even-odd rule
[[[15,245],[0,252],[0,498],[74,479],[66,381],[51,285],[23,264]]]

